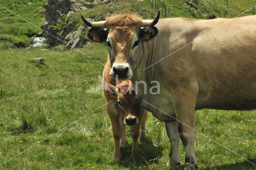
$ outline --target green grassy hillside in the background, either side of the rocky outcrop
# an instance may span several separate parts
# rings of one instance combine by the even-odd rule
[[[2,0],[0,5],[40,27],[40,24],[44,21],[45,9],[43,8],[43,4],[45,2],[46,0]],[[96,21],[104,20],[105,16],[118,14],[124,10],[137,12],[144,19],[154,18],[157,14],[148,0],[144,0],[143,2],[138,2],[138,0],[110,0],[108,4],[93,4],[92,2],[92,0],[87,0],[86,3],[86,6],[90,7],[90,9],[77,12],[74,16],[72,14],[72,16],[68,18],[69,20],[73,20],[77,28],[80,24],[83,24],[80,19],[80,14],[88,18],[94,18]],[[227,8],[225,0],[191,0],[191,2],[193,5],[186,4],[184,0],[165,1],[165,4],[170,8],[170,17],[200,19],[208,19],[213,16],[216,18],[234,17],[244,12],[246,9],[251,8],[253,5],[253,2],[249,0],[243,0],[242,2],[240,0],[228,0],[229,8]],[[26,47],[33,40],[31,36],[42,32],[42,30],[32,26],[4,8],[0,8],[0,49]],[[162,14],[162,7],[160,11],[160,18],[165,18]],[[251,14],[252,10],[242,16]],[[62,24],[63,23],[59,23],[56,27],[61,27]]]

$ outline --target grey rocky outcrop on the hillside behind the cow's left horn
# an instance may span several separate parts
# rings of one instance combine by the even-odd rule
[[[74,48],[82,48],[85,44],[84,40],[79,38],[82,31],[85,30],[85,26],[80,26],[78,30],[75,30],[75,25],[72,21],[64,18],[69,16],[72,12],[78,12],[80,10],[86,10],[87,7],[83,4],[83,0],[48,0],[44,4],[45,20],[41,26],[43,30],[48,32],[43,33],[46,38],[46,43],[50,46],[57,46],[66,42]],[[84,2],[86,4],[86,2]],[[62,24],[60,24],[62,22]],[[50,35],[51,34],[51,35]],[[70,46],[67,45],[68,48]]]

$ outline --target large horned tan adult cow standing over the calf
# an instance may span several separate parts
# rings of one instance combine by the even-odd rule
[[[120,14],[84,22],[107,28],[91,28],[88,37],[106,40],[111,76],[132,76],[132,84],[146,82],[147,94],[142,84],[135,90],[141,106],[166,122],[171,144],[167,165],[180,163],[180,136],[186,152],[184,170],[190,170],[198,167],[195,110],[256,109],[256,16],[159,22],[158,18],[159,13],[154,20]],[[149,93],[152,80],[160,83],[160,94]]]

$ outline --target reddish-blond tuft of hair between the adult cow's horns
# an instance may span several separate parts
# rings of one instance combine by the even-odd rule
[[[138,14],[124,12],[119,15],[106,17],[105,20],[107,25],[125,27],[139,24],[142,21],[142,18]]]

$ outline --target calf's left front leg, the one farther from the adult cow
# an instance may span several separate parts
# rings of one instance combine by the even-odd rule
[[[121,160],[120,139],[122,137],[122,126],[119,122],[119,116],[112,111],[111,106],[107,105],[107,110],[111,120],[113,138],[115,142],[113,157],[116,159],[116,162],[119,162]]]

